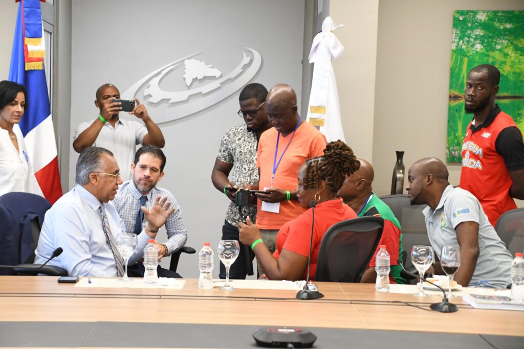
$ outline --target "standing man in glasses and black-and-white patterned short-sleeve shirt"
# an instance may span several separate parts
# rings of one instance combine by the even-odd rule
[[[249,216],[255,221],[257,213],[256,198],[250,196],[250,203],[242,207],[242,214],[235,206],[235,191],[237,184],[252,185],[258,182],[257,148],[260,135],[271,128],[266,114],[267,89],[260,84],[249,84],[244,87],[239,96],[240,110],[238,115],[244,118],[229,129],[220,143],[219,154],[216,156],[211,180],[216,189],[223,192],[231,200],[227,209],[222,240],[238,240],[239,221],[245,221]],[[229,178],[230,172],[231,180]],[[230,268],[231,279],[245,279],[247,261],[245,249],[241,247],[240,254]],[[220,263],[220,278],[226,277],[225,266]]]

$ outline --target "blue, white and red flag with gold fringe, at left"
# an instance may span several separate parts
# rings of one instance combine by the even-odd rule
[[[62,186],[43,70],[44,55],[40,0],[20,0],[9,80],[26,87],[28,106],[18,125],[43,195],[54,204],[62,196]]]

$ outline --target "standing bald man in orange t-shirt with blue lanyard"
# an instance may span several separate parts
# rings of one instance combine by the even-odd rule
[[[275,241],[282,225],[297,218],[304,209],[297,199],[297,177],[307,159],[324,154],[324,135],[300,118],[297,95],[289,85],[273,86],[266,99],[266,112],[274,128],[264,132],[258,142],[257,167],[260,174],[256,194],[256,224],[268,249],[275,251]],[[260,266],[260,275],[264,274]]]

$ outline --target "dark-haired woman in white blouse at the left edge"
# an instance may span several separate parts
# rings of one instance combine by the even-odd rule
[[[26,89],[0,81],[0,195],[26,192],[43,196],[18,125],[26,107]]]

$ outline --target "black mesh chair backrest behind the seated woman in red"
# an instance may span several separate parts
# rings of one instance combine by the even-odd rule
[[[384,219],[361,217],[336,223],[320,243],[316,281],[357,283],[375,254]]]

